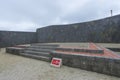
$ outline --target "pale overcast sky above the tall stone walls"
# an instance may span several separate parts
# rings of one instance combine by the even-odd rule
[[[0,30],[35,31],[120,14],[120,0],[0,0]]]

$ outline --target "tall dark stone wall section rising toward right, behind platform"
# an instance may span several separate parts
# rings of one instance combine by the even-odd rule
[[[120,43],[120,15],[96,21],[37,29],[38,42]]]

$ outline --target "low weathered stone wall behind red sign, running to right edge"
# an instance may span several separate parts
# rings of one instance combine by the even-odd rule
[[[62,58],[63,65],[120,77],[120,59],[92,57],[80,54],[52,52],[52,57]]]

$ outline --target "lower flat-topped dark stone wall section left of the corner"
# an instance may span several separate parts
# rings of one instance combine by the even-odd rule
[[[35,32],[0,31],[0,47],[36,43]]]

